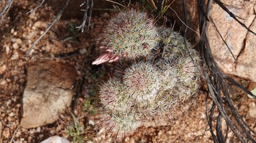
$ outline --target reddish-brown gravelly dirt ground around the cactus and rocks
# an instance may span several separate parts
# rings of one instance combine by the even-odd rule
[[[0,8],[3,8],[3,2]],[[86,128],[84,138],[89,142],[110,142],[108,136],[90,123],[90,115],[97,105],[84,105],[97,96],[97,87],[108,77],[111,65],[92,66],[92,61],[100,55],[99,33],[104,26],[104,19],[108,15],[96,11],[92,17],[92,26],[89,31],[81,33],[75,26],[79,26],[82,19],[60,19],[51,30],[36,44],[32,56],[26,52],[36,39],[45,31],[45,28],[54,19],[56,10],[51,4],[45,3],[35,13],[28,13],[39,2],[22,0],[14,1],[10,12],[0,25],[0,142],[41,142],[52,135],[67,137],[65,128],[74,125],[70,112],[78,119],[81,126]],[[83,11],[81,11],[83,13]],[[74,110],[61,114],[56,123],[38,128],[24,129],[19,126],[22,93],[26,86],[26,69],[35,59],[48,59],[72,64],[77,70],[76,90],[82,86],[82,92],[76,98]],[[247,80],[234,77],[244,87],[252,85]],[[209,126],[205,115],[206,90],[204,82],[198,94],[184,103],[177,110],[177,117],[165,126],[141,127],[136,132],[125,135],[122,142],[212,142]],[[255,100],[248,98],[241,90],[230,86],[232,100],[235,107],[248,125],[256,130],[255,119],[248,111],[253,112]],[[211,107],[208,101],[208,109]],[[218,114],[214,114],[214,119]],[[72,140],[72,137],[68,137]],[[232,132],[228,133],[227,142],[236,142]]]

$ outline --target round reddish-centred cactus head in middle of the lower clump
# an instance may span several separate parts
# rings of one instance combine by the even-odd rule
[[[154,102],[161,87],[158,72],[150,61],[132,64],[125,70],[123,80],[124,85],[129,87],[129,93],[132,94],[134,100],[141,103]]]

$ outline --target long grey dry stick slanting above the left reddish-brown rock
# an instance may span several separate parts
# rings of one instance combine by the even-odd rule
[[[55,22],[60,19],[61,14],[63,13],[63,11],[65,10],[65,8],[68,5],[68,2],[69,2],[69,0],[66,1],[62,10],[58,13],[58,15],[55,17],[55,19],[52,20],[51,24],[47,27],[47,29],[44,31],[44,33],[41,34],[40,37],[33,43],[32,47],[27,52],[27,57],[30,56],[29,54],[30,54],[31,50],[35,47],[36,43],[38,43],[38,41],[41,40],[41,38],[51,29],[51,27],[55,24]]]

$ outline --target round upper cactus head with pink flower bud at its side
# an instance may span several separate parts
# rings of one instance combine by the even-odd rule
[[[118,59],[136,59],[147,56],[157,45],[157,28],[147,13],[125,9],[113,16],[102,34],[102,46],[106,53],[92,64],[102,64]]]

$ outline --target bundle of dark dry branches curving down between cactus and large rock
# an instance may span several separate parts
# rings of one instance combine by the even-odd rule
[[[200,48],[200,54],[202,58],[202,64],[204,68],[204,77],[207,82],[208,91],[211,94],[211,98],[213,100],[212,103],[212,110],[216,107],[218,107],[218,112],[220,112],[217,126],[216,126],[216,133],[217,137],[214,132],[212,133],[212,139],[214,139],[214,142],[225,142],[227,140],[227,131],[225,138],[222,137],[221,133],[221,120],[220,117],[223,117],[225,119],[225,123],[227,124],[228,128],[232,130],[234,135],[241,141],[241,142],[255,142],[255,140],[252,138],[252,134],[255,135],[255,132],[253,132],[252,128],[250,128],[245,121],[243,120],[243,117],[240,116],[239,112],[237,112],[236,108],[234,107],[232,100],[229,96],[229,89],[227,86],[227,82],[231,82],[232,84],[236,85],[237,87],[243,89],[246,93],[250,93],[250,91],[247,91],[243,86],[232,80],[230,77],[225,75],[221,72],[220,68],[218,67],[218,64],[214,61],[214,58],[212,57],[211,48],[209,45],[209,39],[207,37],[207,29],[209,26],[209,13],[212,8],[212,0],[209,0],[207,3],[207,7],[205,8],[205,1],[204,0],[198,0],[198,13],[199,13],[199,27],[200,27],[200,41],[199,41],[199,48]],[[223,101],[223,98],[221,97],[221,93],[225,96],[225,102]],[[253,95],[252,95],[253,96]],[[255,98],[255,96],[253,96]],[[232,111],[232,117],[235,118],[234,123],[230,117],[228,117],[228,114],[226,112],[226,109],[224,108],[224,105],[227,105],[227,107]],[[210,116],[207,121],[210,126],[210,131],[214,130],[212,126],[212,111],[210,112]]]

